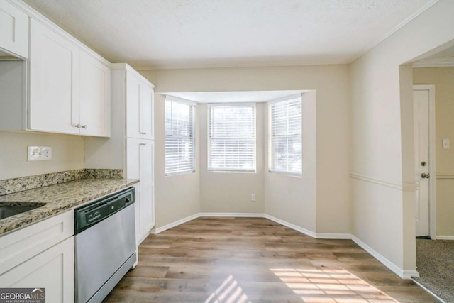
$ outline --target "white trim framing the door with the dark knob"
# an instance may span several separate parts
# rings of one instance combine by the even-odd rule
[[[428,161],[429,174],[428,179],[428,220],[429,233],[432,240],[436,240],[436,138],[435,138],[435,85],[413,85],[415,91],[428,91]],[[415,201],[416,202],[416,201]]]

